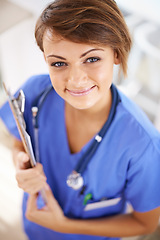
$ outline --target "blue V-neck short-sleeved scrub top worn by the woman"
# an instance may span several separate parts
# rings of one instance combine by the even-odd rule
[[[24,117],[33,147],[32,102],[50,84],[49,75],[38,75],[22,86],[26,96]],[[93,139],[80,152],[72,154],[66,133],[64,100],[52,90],[41,107],[38,122],[40,161],[55,198],[70,218],[88,219],[125,213],[127,202],[138,212],[160,206],[160,133],[131,100],[121,92],[119,95],[121,101],[112,124],[83,174],[86,186],[83,194],[80,194],[81,190],[69,188],[66,179]],[[9,131],[20,138],[8,104],[0,109],[0,117]],[[84,205],[88,193],[92,194],[92,199]],[[24,215],[27,198],[25,193],[23,221],[29,239],[109,239],[61,234],[34,224]],[[39,197],[38,206],[43,205]]]

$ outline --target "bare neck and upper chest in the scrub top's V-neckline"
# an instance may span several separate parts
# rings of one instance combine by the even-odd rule
[[[108,119],[111,104],[112,95],[110,90],[106,93],[105,99],[101,99],[90,109],[75,109],[66,103],[65,122],[68,143],[72,153],[79,152],[100,131]]]

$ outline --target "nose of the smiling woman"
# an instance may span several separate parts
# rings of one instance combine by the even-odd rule
[[[75,87],[86,86],[87,73],[80,66],[72,66],[68,70],[68,83]]]

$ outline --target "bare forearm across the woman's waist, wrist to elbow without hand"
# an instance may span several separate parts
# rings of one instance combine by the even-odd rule
[[[107,237],[130,237],[148,234],[150,229],[147,229],[133,214],[124,214],[101,219],[67,219],[65,232]]]

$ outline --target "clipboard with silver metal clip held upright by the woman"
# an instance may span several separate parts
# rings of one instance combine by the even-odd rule
[[[24,108],[25,108],[25,95],[24,95],[23,91],[20,90],[18,97],[15,98],[10,93],[10,91],[7,90],[4,82],[3,82],[3,86],[5,89],[5,92],[8,96],[9,105],[12,110],[14,119],[16,121],[17,128],[18,128],[24,149],[29,156],[31,166],[34,167],[36,165],[36,160],[35,160],[34,153],[33,153],[31,138],[26,131],[26,124],[25,124],[25,120],[23,117]]]

